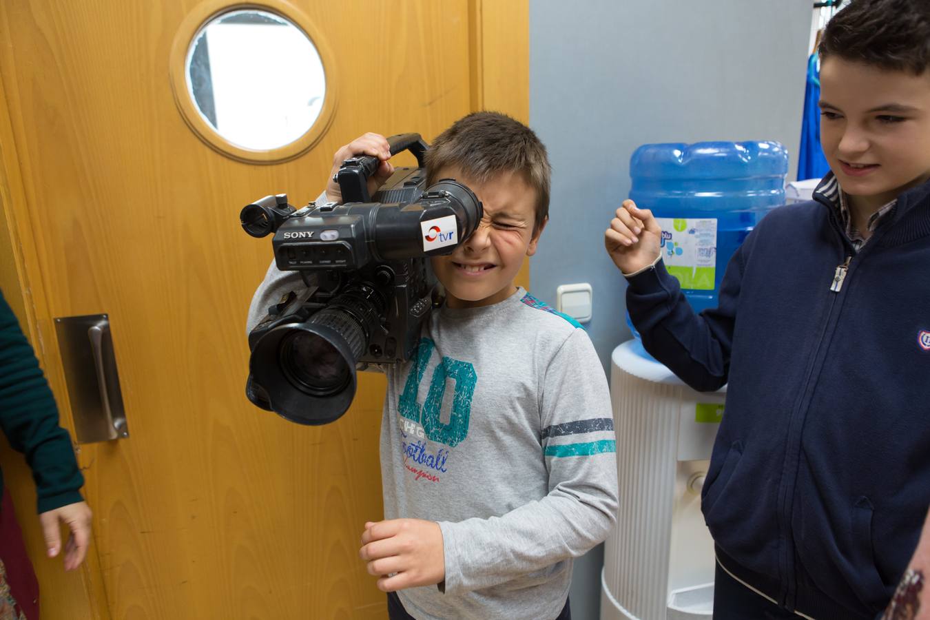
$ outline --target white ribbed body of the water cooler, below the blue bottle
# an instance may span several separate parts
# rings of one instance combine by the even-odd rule
[[[631,340],[611,355],[618,524],[604,543],[601,620],[710,620],[714,556],[700,487],[725,388],[688,388]]]

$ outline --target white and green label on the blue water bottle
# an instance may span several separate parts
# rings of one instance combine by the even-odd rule
[[[665,267],[682,288],[713,290],[717,271],[716,218],[656,218]]]

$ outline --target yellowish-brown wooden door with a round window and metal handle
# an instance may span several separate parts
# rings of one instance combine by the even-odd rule
[[[363,523],[381,516],[383,379],[362,376],[352,409],[322,428],[246,401],[246,309],[271,249],[238,212],[281,191],[311,200],[333,152],[365,131],[429,140],[481,108],[526,121],[528,10],[249,6],[309,24],[338,92],[319,139],[286,162],[219,152],[179,111],[175,40],[218,0],[0,4],[0,285],[70,429],[53,320],[109,315],[130,431],[79,447],[94,542],[73,575],[44,558],[28,472],[5,451],[43,618],[386,615],[357,559]]]

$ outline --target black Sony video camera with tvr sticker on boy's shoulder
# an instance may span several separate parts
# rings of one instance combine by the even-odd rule
[[[419,134],[388,139],[410,150],[417,168],[396,168],[374,196],[377,157],[346,160],[336,180],[342,204],[295,210],[286,194],[265,196],[240,213],[253,237],[274,233],[279,270],[299,271],[305,289],[269,309],[248,336],[248,400],[300,424],[327,424],[355,396],[359,363],[398,363],[417,350],[436,287],[428,257],[450,254],[477,228],[482,204],[464,185],[426,188]]]

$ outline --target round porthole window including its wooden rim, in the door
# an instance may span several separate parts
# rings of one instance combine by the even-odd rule
[[[336,85],[326,45],[289,5],[207,2],[179,29],[171,54],[175,102],[209,146],[272,164],[322,137]]]

